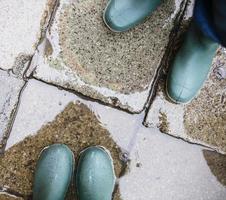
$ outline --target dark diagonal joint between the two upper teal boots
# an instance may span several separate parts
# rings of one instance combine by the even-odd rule
[[[148,127],[148,125],[145,123],[145,121],[148,117],[148,111],[152,105],[154,98],[157,95],[158,84],[164,74],[164,69],[166,69],[166,66],[168,66],[170,59],[174,53],[174,48],[172,48],[172,47],[174,47],[175,46],[174,44],[176,44],[176,41],[177,41],[177,38],[179,35],[178,30],[181,28],[181,23],[183,21],[183,17],[185,16],[186,10],[189,5],[190,5],[190,0],[186,0],[180,5],[181,12],[179,12],[177,14],[177,16],[175,17],[174,28],[171,30],[171,33],[169,35],[169,42],[166,47],[166,51],[164,53],[161,63],[159,64],[159,66],[155,72],[151,90],[150,90],[147,102],[145,104],[145,116],[144,116],[144,120],[143,120],[143,125],[145,127]]]

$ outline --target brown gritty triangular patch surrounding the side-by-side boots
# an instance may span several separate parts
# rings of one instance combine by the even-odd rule
[[[116,176],[124,169],[120,161],[120,149],[102,127],[89,108],[81,103],[69,103],[54,121],[43,126],[36,135],[25,138],[22,142],[8,149],[0,159],[0,177],[2,186],[24,195],[32,194],[32,182],[35,165],[40,151],[51,144],[64,143],[78,159],[79,152],[91,145],[106,147],[114,160]],[[69,194],[68,199],[75,199]],[[2,196],[1,196],[2,197]],[[114,200],[120,200],[119,191]]]

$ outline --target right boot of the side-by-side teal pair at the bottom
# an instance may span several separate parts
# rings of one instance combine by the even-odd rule
[[[89,147],[80,154],[76,185],[79,200],[112,200],[114,167],[102,147]]]

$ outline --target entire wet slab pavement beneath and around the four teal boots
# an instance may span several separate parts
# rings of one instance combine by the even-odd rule
[[[53,143],[67,144],[76,160],[88,146],[107,148],[114,200],[224,200],[225,49],[200,96],[172,104],[160,69],[174,48],[172,30],[189,21],[192,4],[166,0],[145,23],[117,34],[102,22],[106,3],[0,2],[6,30],[18,28],[15,38],[0,33],[0,200],[32,198],[36,161]]]

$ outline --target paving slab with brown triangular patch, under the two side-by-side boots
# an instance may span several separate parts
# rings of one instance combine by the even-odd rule
[[[9,187],[26,198],[30,197],[33,172],[39,152],[52,143],[67,144],[74,151],[76,159],[79,152],[90,145],[106,147],[114,158],[116,174],[119,177],[121,171],[124,170],[119,159],[121,147],[119,148],[112,138],[116,138],[116,141],[123,138],[120,144],[129,140],[130,135],[127,137],[112,136],[104,123],[99,122],[100,115],[95,113],[96,106],[99,105],[94,102],[88,104],[82,99],[79,101],[74,94],[56,87],[36,80],[29,81],[21,98],[6,152],[0,159],[0,171],[2,172],[0,183],[3,187]],[[106,109],[100,109],[99,113],[108,112],[107,116],[111,117],[110,111],[117,112],[106,107]],[[123,114],[121,112],[118,117],[125,123]],[[124,142],[124,144],[127,143]],[[69,196],[68,199],[74,198]],[[119,192],[115,193],[114,199],[121,199]]]

